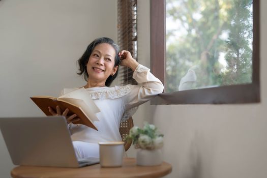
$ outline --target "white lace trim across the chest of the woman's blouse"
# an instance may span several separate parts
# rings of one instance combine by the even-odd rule
[[[99,99],[115,99],[115,98],[121,98],[128,93],[130,93],[131,89],[134,88],[134,85],[125,85],[125,86],[115,86],[111,88],[105,88],[103,90],[97,90],[97,91],[88,91],[88,94],[91,96],[93,100]]]

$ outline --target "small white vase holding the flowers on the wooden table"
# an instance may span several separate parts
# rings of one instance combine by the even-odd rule
[[[160,149],[139,149],[136,155],[136,164],[139,166],[156,166],[162,163],[162,152]]]

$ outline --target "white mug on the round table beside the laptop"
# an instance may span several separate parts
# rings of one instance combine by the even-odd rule
[[[123,165],[124,142],[99,142],[101,167],[120,167]]]

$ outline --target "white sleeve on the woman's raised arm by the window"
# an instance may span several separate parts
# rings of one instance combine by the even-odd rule
[[[138,85],[134,85],[130,93],[123,97],[126,110],[139,106],[163,92],[162,82],[150,72],[149,68],[139,64],[133,73],[133,78]]]

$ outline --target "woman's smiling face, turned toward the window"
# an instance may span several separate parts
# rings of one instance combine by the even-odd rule
[[[107,43],[97,45],[88,60],[88,82],[105,83],[110,75],[114,75],[118,66],[115,64],[115,49]]]

